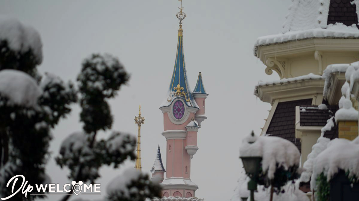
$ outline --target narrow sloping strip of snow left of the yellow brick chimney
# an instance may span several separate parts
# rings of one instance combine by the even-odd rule
[[[329,138],[326,137],[318,138],[317,143],[313,145],[311,153],[308,154],[307,160],[303,164],[305,171],[303,171],[302,174],[300,175],[299,178],[300,182],[309,182],[311,180],[313,160],[315,160],[315,157],[317,157],[324,149],[327,148],[327,144],[329,142],[330,142]]]

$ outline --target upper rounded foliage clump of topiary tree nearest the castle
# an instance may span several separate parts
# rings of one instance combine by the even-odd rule
[[[108,54],[93,54],[84,60],[77,80],[81,93],[80,118],[87,133],[111,128],[113,120],[106,99],[116,95],[128,79],[122,64]]]

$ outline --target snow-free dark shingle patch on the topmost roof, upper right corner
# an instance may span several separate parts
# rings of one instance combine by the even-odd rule
[[[343,23],[347,26],[355,24],[358,28],[358,15],[353,0],[330,0],[327,24]]]

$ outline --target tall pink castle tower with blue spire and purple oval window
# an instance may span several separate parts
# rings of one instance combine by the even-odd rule
[[[168,97],[160,106],[163,112],[163,132],[166,138],[166,177],[161,183],[162,195],[194,197],[198,186],[191,181],[191,159],[198,150],[197,132],[205,116],[205,99],[207,93],[199,73],[195,90],[191,92],[187,81],[185,57],[183,55],[182,20],[185,13],[177,13],[180,20],[176,60],[172,79],[169,84]],[[196,123],[198,122],[198,124]],[[161,169],[158,168],[157,169]],[[164,169],[157,172],[163,175]],[[153,177],[156,168],[153,169]],[[160,177],[160,176],[159,176]]]

